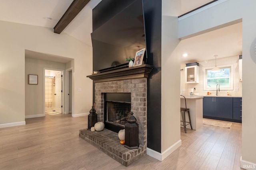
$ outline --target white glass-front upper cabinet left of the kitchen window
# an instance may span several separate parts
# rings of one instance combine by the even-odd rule
[[[185,67],[185,83],[199,83],[199,66]]]

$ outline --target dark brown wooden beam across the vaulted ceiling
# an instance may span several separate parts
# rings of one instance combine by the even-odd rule
[[[76,15],[88,4],[90,0],[74,0],[68,7],[65,14],[60,18],[54,27],[54,33],[60,34]]]

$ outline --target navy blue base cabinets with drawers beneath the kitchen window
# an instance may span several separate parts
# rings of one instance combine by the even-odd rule
[[[204,97],[203,117],[242,122],[242,98]]]

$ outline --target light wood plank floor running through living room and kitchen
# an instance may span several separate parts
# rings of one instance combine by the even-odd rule
[[[52,170],[237,170],[240,169],[240,123],[230,129],[203,125],[181,128],[182,146],[160,162],[148,155],[128,167],[90,145],[79,134],[87,116],[52,115],[26,119],[26,125],[0,129],[0,169]]]

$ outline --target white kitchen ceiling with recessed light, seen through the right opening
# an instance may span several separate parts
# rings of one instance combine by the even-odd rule
[[[242,22],[184,39],[179,44],[181,63],[242,55]],[[188,57],[183,57],[184,53]],[[217,58],[217,59],[218,59]]]

